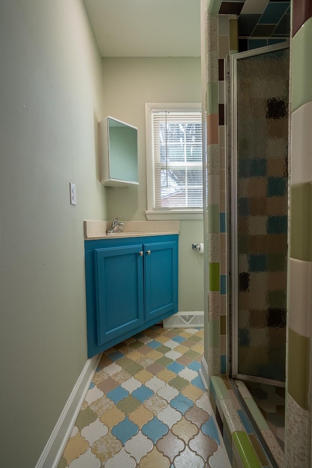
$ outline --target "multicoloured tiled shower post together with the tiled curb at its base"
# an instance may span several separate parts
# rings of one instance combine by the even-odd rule
[[[220,4],[220,2],[219,2]],[[257,441],[248,435],[244,412],[234,397],[227,372],[227,163],[225,58],[238,52],[237,16],[216,14],[213,2],[207,15],[207,169],[209,250],[209,396],[234,468],[267,467]],[[216,8],[216,9],[215,9]],[[247,464],[247,465],[246,465]]]

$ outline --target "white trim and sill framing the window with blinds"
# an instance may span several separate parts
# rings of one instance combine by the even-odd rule
[[[203,210],[197,208],[154,210],[153,195],[153,155],[152,155],[152,111],[191,111],[202,112],[200,102],[148,102],[145,104],[145,131],[146,131],[146,194],[147,210],[145,215],[149,220],[161,219],[203,219]]]

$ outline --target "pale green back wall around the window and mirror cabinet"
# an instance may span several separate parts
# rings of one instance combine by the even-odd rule
[[[104,58],[104,114],[138,128],[136,187],[108,187],[109,219],[146,220],[146,102],[201,102],[200,58]],[[203,221],[180,221],[179,311],[203,311],[204,255],[192,250],[203,242]]]

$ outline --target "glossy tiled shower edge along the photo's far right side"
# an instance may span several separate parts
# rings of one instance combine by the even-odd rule
[[[286,468],[311,467],[312,2],[292,1]]]

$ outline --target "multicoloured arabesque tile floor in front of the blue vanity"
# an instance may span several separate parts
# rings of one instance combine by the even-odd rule
[[[202,352],[203,330],[159,325],[104,351],[59,468],[230,468]]]

